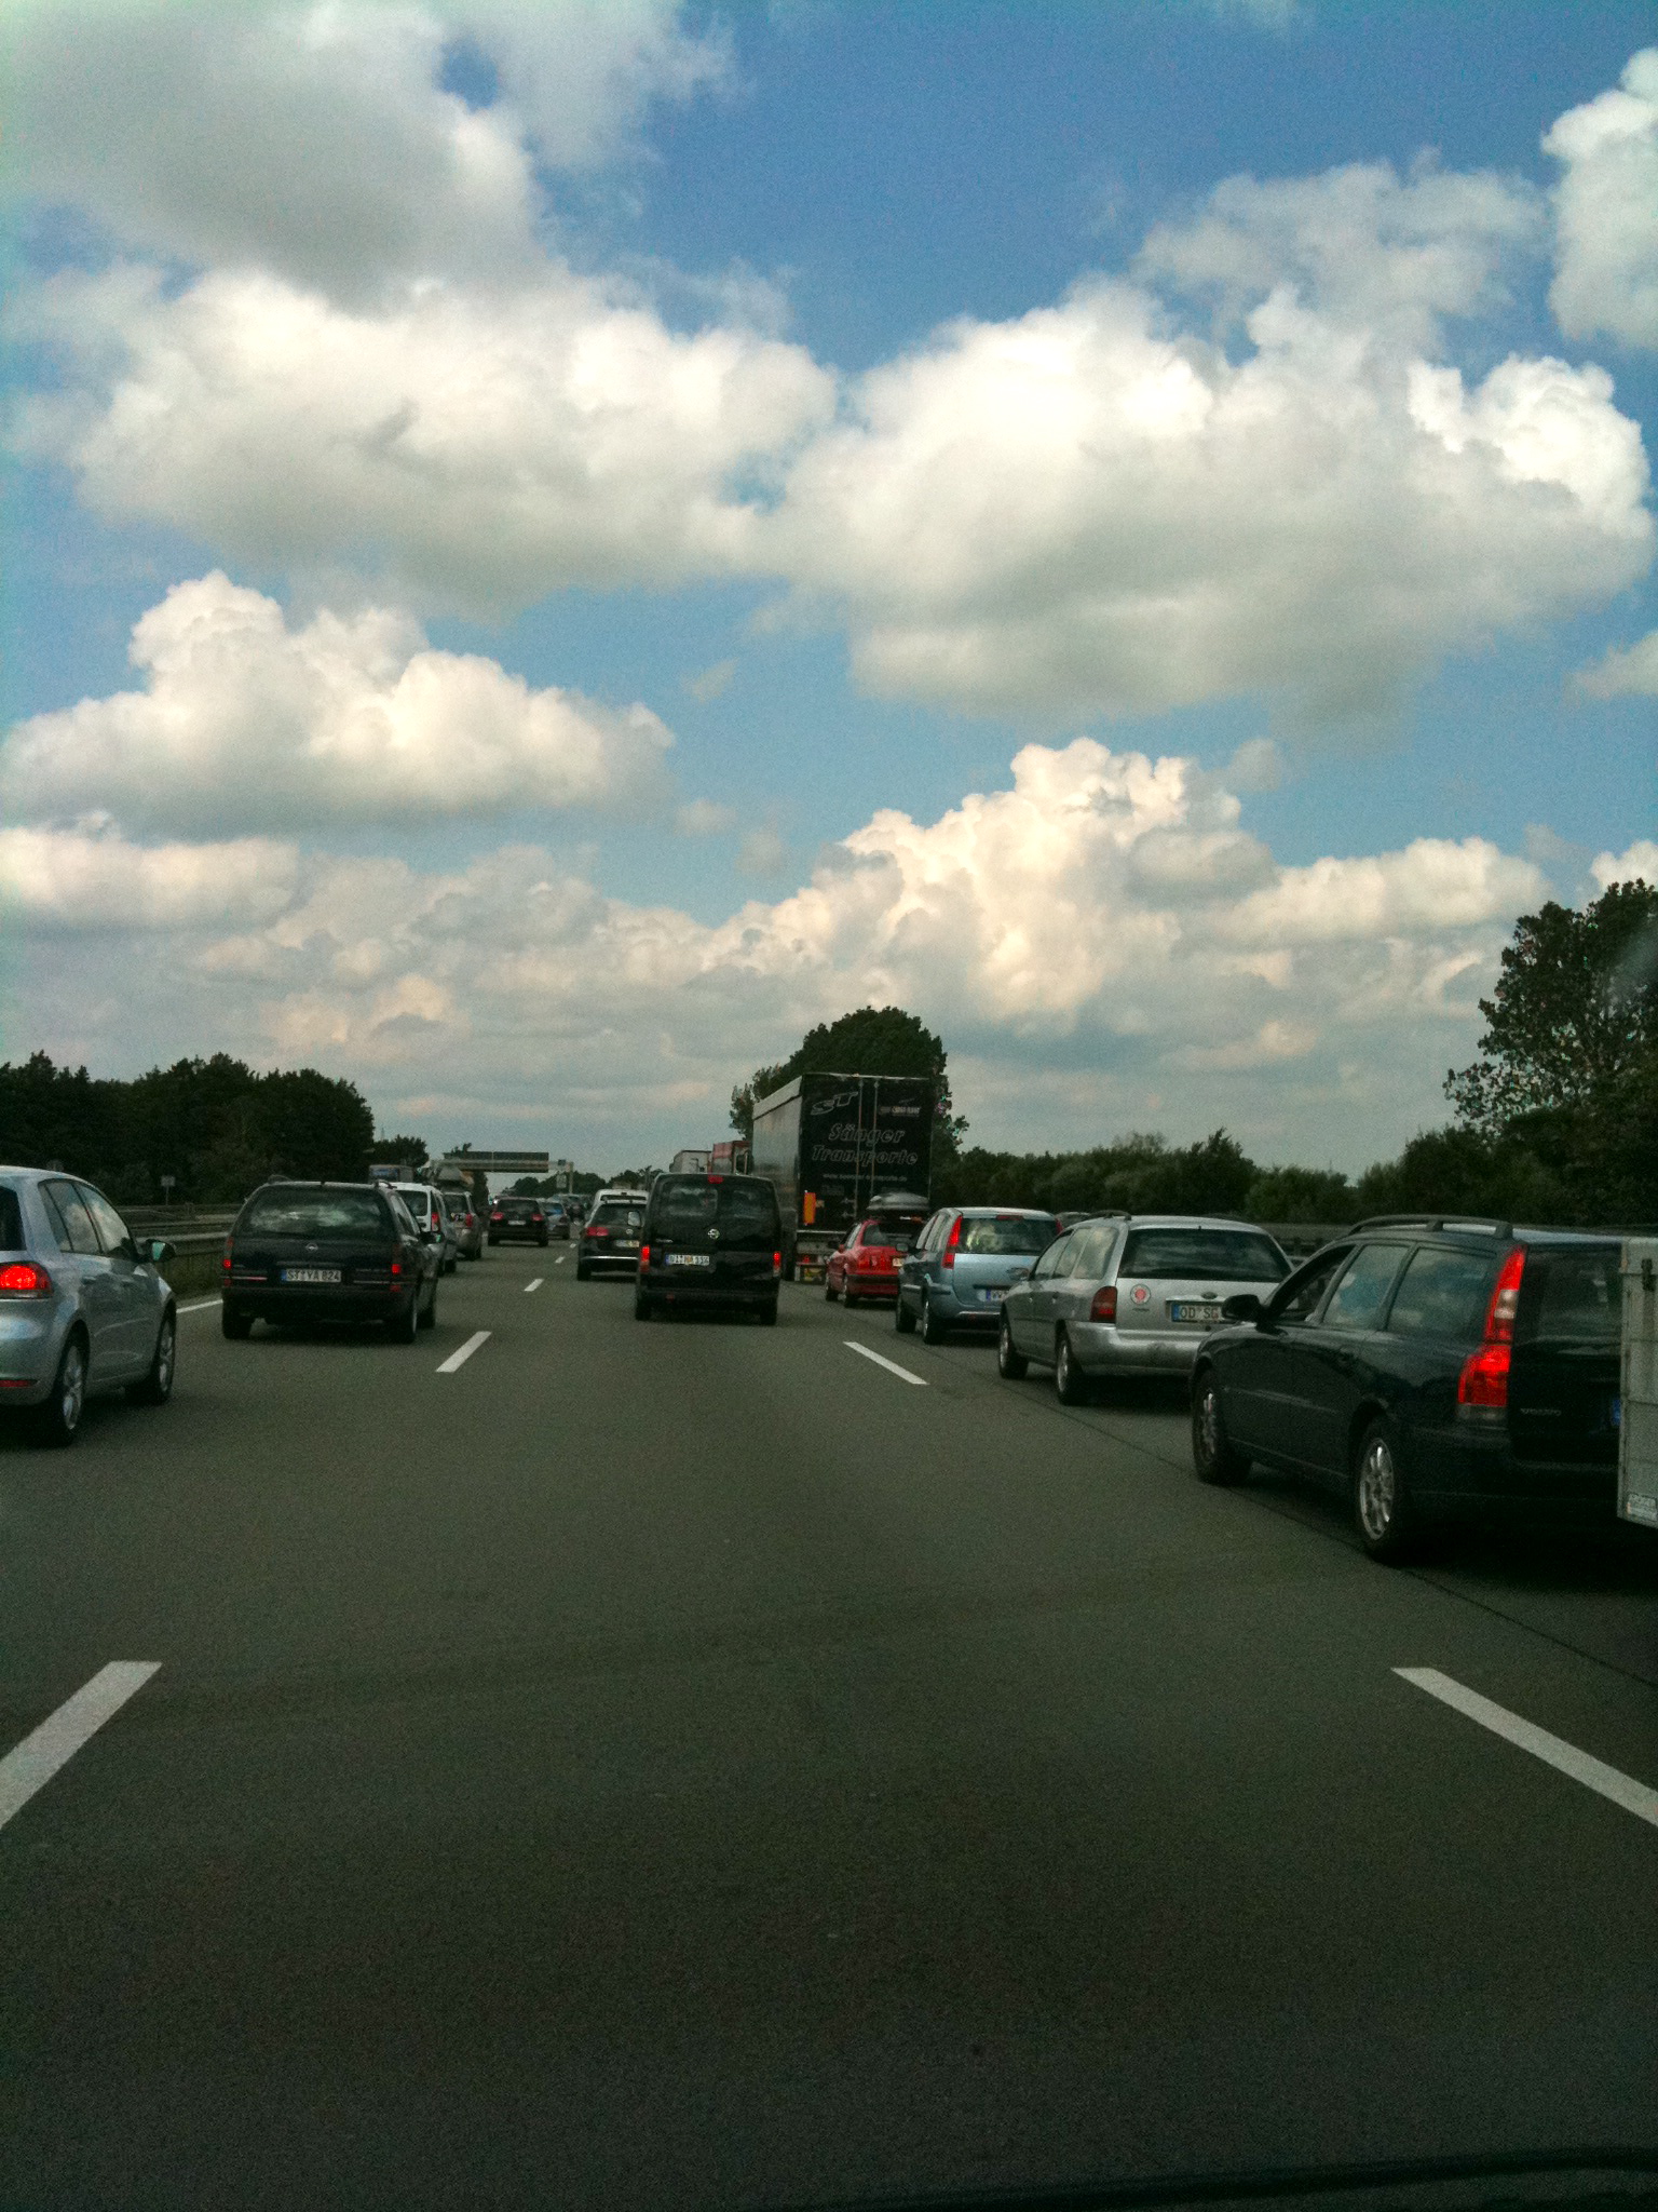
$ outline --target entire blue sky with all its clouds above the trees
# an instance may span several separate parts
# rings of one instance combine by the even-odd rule
[[[7,1053],[1362,1166],[1658,867],[1647,7],[323,20],[11,33]]]

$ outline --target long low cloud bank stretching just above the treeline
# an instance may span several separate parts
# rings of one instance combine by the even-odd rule
[[[99,843],[113,887],[95,905],[64,858]],[[1006,790],[931,823],[880,812],[796,891],[718,925],[606,898],[535,847],[431,874],[82,832],[38,849],[49,896],[13,891],[13,911],[53,936],[31,951],[18,929],[18,1018],[49,1048],[64,1006],[77,1048],[122,1064],[210,1024],[228,1048],[374,1073],[378,1095],[646,1146],[705,1141],[736,1077],[873,1000],[942,1029],[964,1108],[999,1115],[986,1137],[1054,1141],[1050,1113],[1074,1141],[1227,1121],[1362,1164],[1437,1097],[1512,916],[1547,896],[1479,838],[1282,869],[1192,761],[1092,739],[1024,748]],[[265,883],[252,852],[272,854]],[[119,918],[148,936],[111,951],[97,927]],[[75,920],[86,953],[62,933]],[[93,962],[119,989],[88,1037]]]

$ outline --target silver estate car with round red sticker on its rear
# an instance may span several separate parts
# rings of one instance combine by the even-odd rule
[[[1001,1303],[997,1367],[1017,1383],[1052,1367],[1066,1405],[1114,1376],[1187,1376],[1238,1292],[1258,1298],[1289,1274],[1273,1239],[1211,1214],[1083,1221],[1041,1254]]]

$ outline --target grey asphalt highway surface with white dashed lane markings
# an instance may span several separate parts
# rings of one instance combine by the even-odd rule
[[[170,1407],[0,1436],[7,1752],[7,2212],[1658,2143],[1654,1553],[1391,1573],[820,1290],[188,1312]]]

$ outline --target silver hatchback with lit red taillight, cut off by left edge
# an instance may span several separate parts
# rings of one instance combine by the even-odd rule
[[[73,1444],[88,1391],[172,1396],[179,1323],[161,1265],[102,1190],[75,1175],[0,1168],[0,1407],[44,1444]]]

